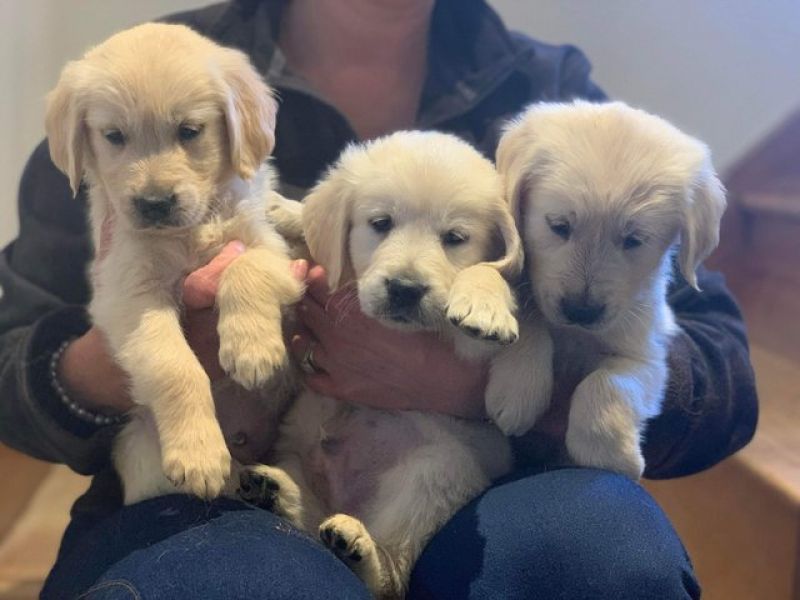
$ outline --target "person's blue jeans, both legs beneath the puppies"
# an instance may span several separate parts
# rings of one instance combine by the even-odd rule
[[[368,598],[314,539],[232,500],[156,498],[75,519],[42,598]],[[516,474],[431,540],[409,598],[699,598],[680,540],[637,484],[603,471]]]

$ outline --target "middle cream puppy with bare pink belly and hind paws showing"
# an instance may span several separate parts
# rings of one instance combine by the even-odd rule
[[[302,218],[330,287],[352,286],[367,315],[439,332],[467,357],[516,338],[504,277],[522,268],[520,240],[494,166],[465,142],[400,132],[350,147]],[[318,531],[379,597],[402,596],[430,536],[511,467],[508,440],[489,423],[310,390],[290,409],[274,459],[243,479],[243,497]]]

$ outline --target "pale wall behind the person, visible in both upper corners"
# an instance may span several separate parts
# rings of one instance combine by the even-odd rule
[[[211,0],[208,0],[211,1]],[[0,0],[0,245],[43,137],[43,98],[63,63],[111,32],[204,0]],[[571,42],[612,96],[705,139],[721,169],[800,107],[797,0],[495,0],[513,28]]]

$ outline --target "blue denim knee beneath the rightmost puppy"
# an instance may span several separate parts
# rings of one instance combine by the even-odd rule
[[[641,486],[593,469],[499,483],[430,542],[412,598],[699,598],[689,558]]]

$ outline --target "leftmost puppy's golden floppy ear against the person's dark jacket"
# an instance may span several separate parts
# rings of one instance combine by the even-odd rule
[[[221,52],[231,164],[242,179],[250,179],[275,147],[278,104],[245,54],[231,49]]]

